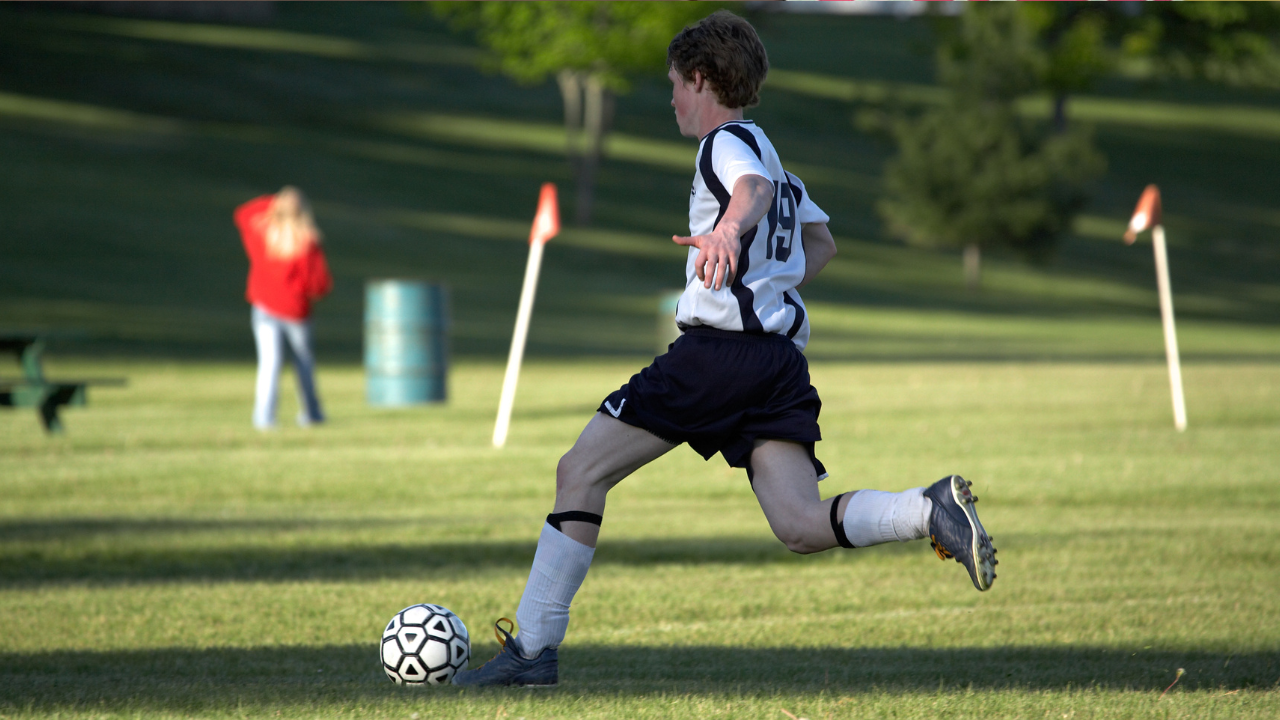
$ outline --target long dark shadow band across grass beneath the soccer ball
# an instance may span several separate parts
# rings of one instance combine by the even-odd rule
[[[476,653],[488,659],[488,643]],[[193,711],[279,705],[366,703],[406,696],[378,666],[376,646],[55,651],[0,655],[0,708]],[[1158,692],[1178,667],[1179,692],[1270,688],[1280,651],[1098,647],[740,648],[570,646],[559,693],[644,697],[675,693],[1066,691]],[[509,693],[435,688],[433,697]],[[522,692],[522,691],[516,691]]]

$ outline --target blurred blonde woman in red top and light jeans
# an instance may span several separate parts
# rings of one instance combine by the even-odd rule
[[[320,249],[311,206],[296,187],[255,197],[236,209],[244,252],[248,254],[248,287],[244,297],[253,306],[253,341],[257,345],[257,392],[253,427],[275,427],[284,345],[293,351],[302,409],[298,425],[324,421],[316,396],[315,357],[311,354],[311,304],[333,288],[329,265]]]

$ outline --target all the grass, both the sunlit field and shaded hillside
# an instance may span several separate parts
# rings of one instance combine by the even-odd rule
[[[129,382],[61,437],[0,413],[0,717],[1280,716],[1280,94],[1117,78],[1073,99],[1108,156],[1093,201],[1052,263],[992,252],[966,292],[956,254],[883,237],[890,150],[854,129],[887,92],[936,97],[928,27],[753,15],[774,74],[751,117],[840,246],[805,288],[824,493],[961,473],[1000,579],[979,594],[924,543],[794,556],[741,473],[681,448],[613,493],[559,689],[413,693],[378,667],[383,624],[439,602],[492,656],[557,459],[682,282],[694,146],[662,69],[618,101],[594,222],[548,246],[498,452],[539,184],[573,214],[554,87],[484,74],[394,4],[280,3],[265,27],[82,10],[0,4],[0,333],[50,333],[50,375]],[[337,278],[316,314],[332,421],[259,434],[230,211],[285,182]],[[1151,251],[1119,242],[1148,182],[1181,434]],[[451,287],[448,405],[365,405],[364,282],[384,275]]]

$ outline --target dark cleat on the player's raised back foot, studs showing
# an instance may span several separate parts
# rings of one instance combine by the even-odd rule
[[[933,483],[924,497],[933,501],[929,512],[929,544],[940,560],[955,557],[969,570],[973,587],[991,588],[996,580],[996,547],[978,521],[974,503],[978,498],[969,492],[973,483],[960,475],[950,475]]]

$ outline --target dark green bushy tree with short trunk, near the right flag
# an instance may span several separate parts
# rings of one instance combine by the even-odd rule
[[[957,20],[938,49],[947,101],[890,123],[899,155],[884,167],[877,208],[910,245],[963,247],[965,283],[977,288],[984,247],[1048,258],[1105,160],[1088,128],[1052,129],[1016,114],[1015,100],[1041,88],[1051,67],[1016,5]]]

